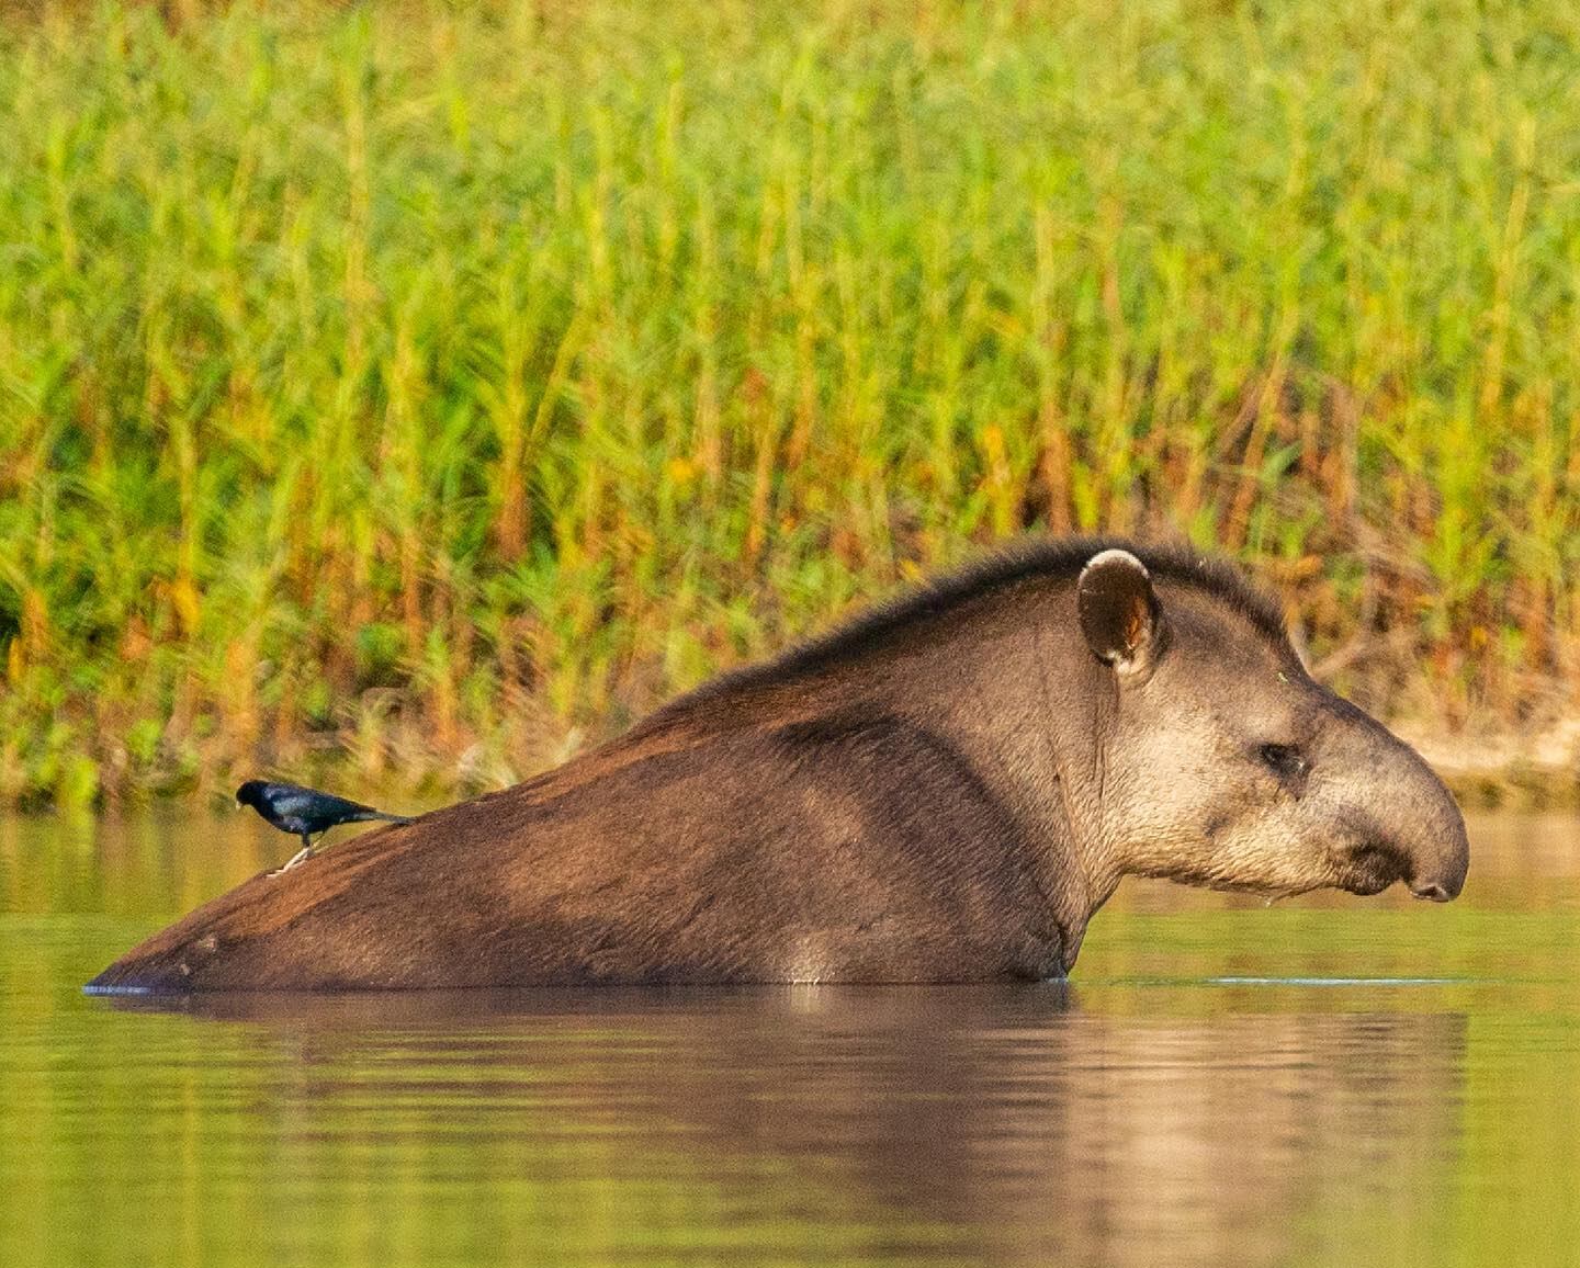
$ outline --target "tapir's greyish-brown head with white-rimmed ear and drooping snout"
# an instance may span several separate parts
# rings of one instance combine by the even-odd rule
[[[1460,892],[1469,845],[1447,788],[1315,682],[1255,600],[1155,581],[1106,550],[1076,606],[1104,701],[1093,813],[1119,873],[1264,894]]]

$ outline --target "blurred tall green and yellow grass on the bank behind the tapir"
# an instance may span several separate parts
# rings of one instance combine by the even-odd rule
[[[0,804],[487,786],[1024,531],[1577,712],[1580,9],[40,6]]]

